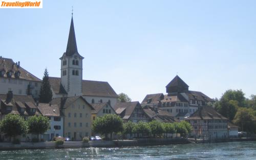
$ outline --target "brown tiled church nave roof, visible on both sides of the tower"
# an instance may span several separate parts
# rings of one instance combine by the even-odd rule
[[[60,83],[61,79],[59,77],[49,77],[49,82],[55,94],[67,94],[67,92]],[[118,97],[118,95],[108,82],[89,80],[82,81],[82,95]]]

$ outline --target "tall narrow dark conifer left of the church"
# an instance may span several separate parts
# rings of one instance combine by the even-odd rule
[[[42,85],[40,88],[39,102],[49,103],[52,100],[52,90],[49,82],[49,73],[45,69],[44,77],[42,77]]]

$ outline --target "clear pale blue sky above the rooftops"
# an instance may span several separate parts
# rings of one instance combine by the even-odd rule
[[[42,78],[60,77],[74,6],[83,79],[142,101],[177,74],[211,98],[256,94],[256,1],[46,1],[0,9],[0,56]]]

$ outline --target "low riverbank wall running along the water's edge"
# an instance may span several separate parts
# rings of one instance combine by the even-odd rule
[[[235,142],[235,141],[256,141],[256,138],[247,139],[220,139],[215,142]],[[172,139],[137,139],[137,140],[114,140],[114,141],[82,141],[65,142],[63,145],[57,145],[55,142],[21,142],[20,144],[12,144],[7,142],[0,143],[0,150],[9,149],[45,149],[45,148],[82,148],[82,147],[128,147],[128,146],[152,146],[152,145],[170,145],[170,144],[186,144],[191,143],[185,138]]]

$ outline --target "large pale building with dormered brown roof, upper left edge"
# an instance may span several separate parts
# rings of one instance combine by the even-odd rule
[[[14,95],[32,95],[38,98],[41,79],[12,59],[0,57],[0,94],[12,91]]]

